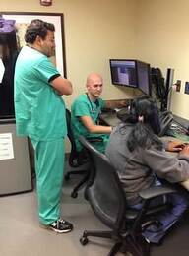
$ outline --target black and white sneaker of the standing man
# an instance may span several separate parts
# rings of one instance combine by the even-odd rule
[[[48,228],[57,233],[67,233],[67,232],[72,231],[73,224],[71,224],[63,219],[59,219],[59,220],[55,221],[54,223],[48,225]]]

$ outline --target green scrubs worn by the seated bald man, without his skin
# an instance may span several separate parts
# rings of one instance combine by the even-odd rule
[[[103,142],[95,143],[93,145],[95,148],[104,152],[106,143],[109,139],[109,134],[95,134],[90,133],[87,128],[83,125],[80,118],[81,116],[90,116],[96,124],[99,114],[101,113],[101,109],[105,106],[105,101],[101,98],[96,99],[96,101],[92,101],[89,99],[87,94],[83,94],[79,96],[71,106],[71,123],[72,123],[72,131],[74,135],[74,139],[76,142],[76,148],[78,151],[83,149],[81,143],[78,140],[80,135],[83,135],[85,138],[95,138],[100,137],[103,139]]]

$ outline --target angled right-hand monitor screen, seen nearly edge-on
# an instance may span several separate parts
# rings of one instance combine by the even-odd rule
[[[151,96],[150,64],[137,61],[138,88],[146,95]]]

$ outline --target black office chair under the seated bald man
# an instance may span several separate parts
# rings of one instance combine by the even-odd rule
[[[89,162],[87,152],[82,151],[81,153],[79,153],[76,150],[76,144],[75,144],[72,129],[71,129],[71,113],[68,109],[66,109],[66,121],[67,121],[67,128],[68,128],[68,138],[71,143],[71,153],[70,153],[68,162],[71,167],[75,168],[75,170],[68,171],[65,174],[64,178],[65,180],[69,180],[70,175],[81,175],[81,174],[83,175],[82,180],[80,180],[80,182],[74,187],[71,193],[71,197],[76,198],[78,196],[78,191],[83,188],[84,184],[88,180],[90,162]],[[84,168],[79,169],[80,166]]]

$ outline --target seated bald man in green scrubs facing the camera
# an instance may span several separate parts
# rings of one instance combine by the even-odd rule
[[[81,152],[83,149],[78,139],[80,135],[83,135],[89,140],[91,138],[100,138],[101,141],[93,142],[93,145],[98,151],[104,153],[112,127],[99,125],[99,114],[104,107],[118,108],[125,106],[125,100],[104,101],[101,99],[100,95],[103,89],[103,80],[101,76],[96,73],[92,73],[88,76],[86,87],[87,93],[79,96],[71,106],[72,130],[77,151]]]

